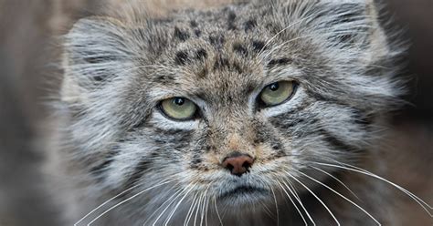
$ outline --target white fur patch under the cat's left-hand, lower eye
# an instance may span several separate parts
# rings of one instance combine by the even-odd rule
[[[176,121],[170,118],[164,117],[159,111],[153,111],[150,122],[158,128],[162,129],[182,129],[182,130],[193,130],[198,128],[198,119]]]

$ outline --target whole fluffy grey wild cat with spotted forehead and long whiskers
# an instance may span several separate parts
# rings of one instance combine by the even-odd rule
[[[397,225],[390,185],[431,211],[370,172],[405,51],[374,1],[143,5],[63,38],[47,168],[65,221]]]

